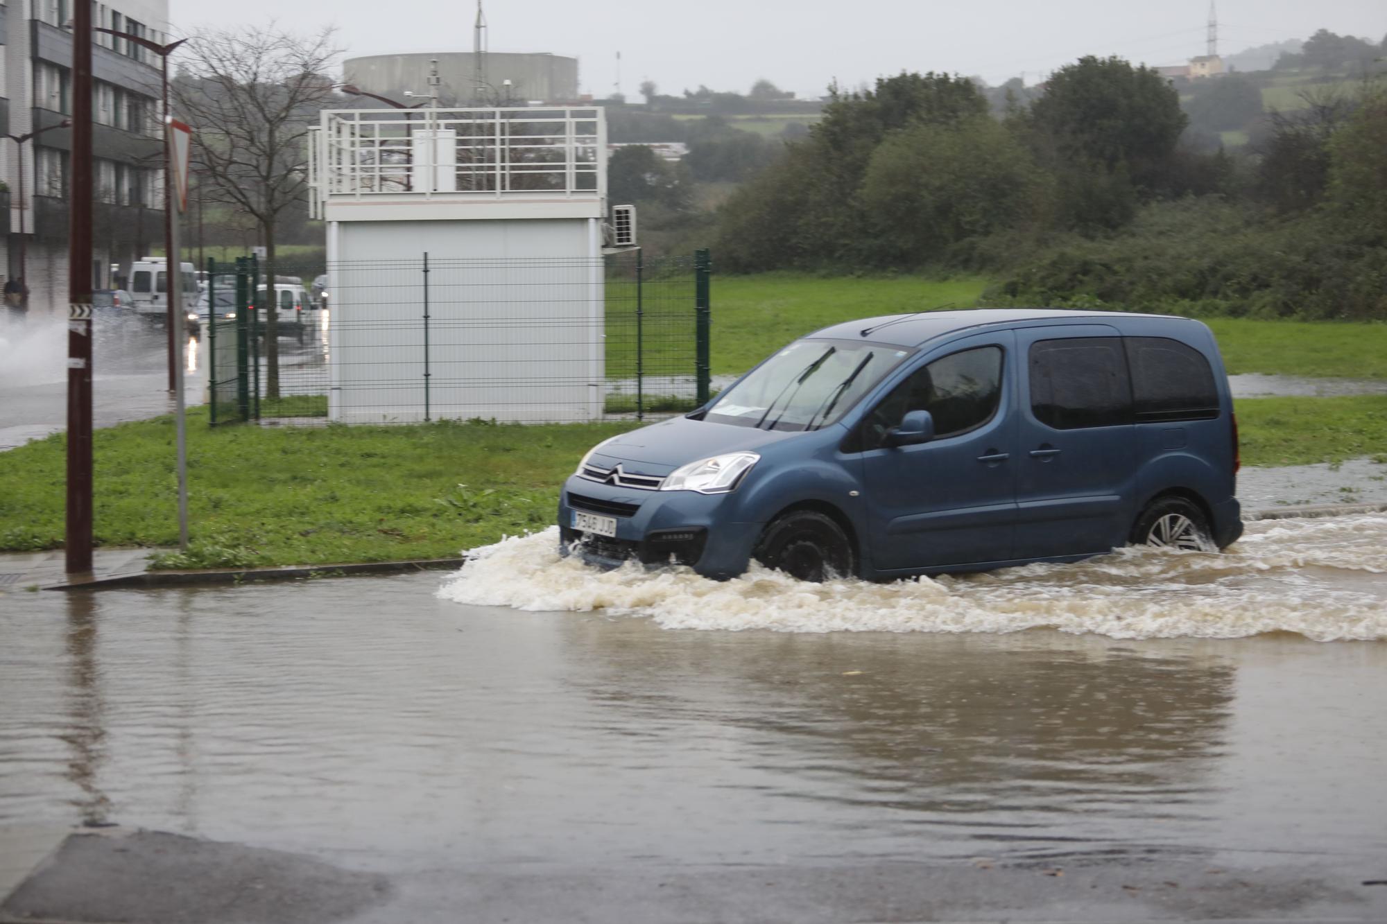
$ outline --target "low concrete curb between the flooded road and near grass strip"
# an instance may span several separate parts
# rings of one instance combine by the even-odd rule
[[[1348,516],[1352,513],[1383,513],[1387,504],[1325,504],[1284,506],[1244,513],[1246,522],[1287,520],[1297,517]],[[286,565],[283,567],[198,569],[187,572],[135,572],[61,584],[47,584],[42,590],[114,590],[128,587],[186,587],[190,584],[247,584],[254,581],[287,581],[305,577],[341,577],[347,574],[398,574],[402,572],[436,572],[462,567],[463,558],[424,558],[408,562],[355,562],[343,565]]]

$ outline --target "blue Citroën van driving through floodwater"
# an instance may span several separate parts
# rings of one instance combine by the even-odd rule
[[[802,580],[1068,562],[1243,533],[1237,423],[1207,326],[979,309],[796,340],[705,407],[592,448],[560,549],[598,565],[759,561]]]

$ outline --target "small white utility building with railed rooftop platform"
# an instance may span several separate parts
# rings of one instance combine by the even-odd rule
[[[329,110],[309,162],[329,419],[602,415],[601,108]]]

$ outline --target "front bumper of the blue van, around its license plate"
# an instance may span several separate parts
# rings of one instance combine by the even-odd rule
[[[601,567],[637,561],[653,567],[688,565],[725,580],[746,570],[763,523],[730,522],[731,494],[642,491],[569,476],[559,495],[559,552]],[[616,536],[573,529],[573,512],[610,516]]]

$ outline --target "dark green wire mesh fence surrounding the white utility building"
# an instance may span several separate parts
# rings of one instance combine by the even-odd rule
[[[214,423],[639,419],[707,400],[706,251],[280,265],[273,297],[254,261],[208,272]]]

